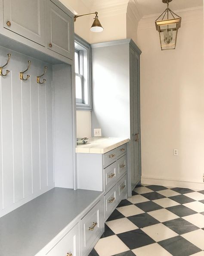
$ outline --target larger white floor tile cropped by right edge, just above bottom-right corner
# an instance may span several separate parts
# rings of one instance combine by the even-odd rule
[[[186,234],[181,235],[189,242],[195,244],[201,250],[204,250],[204,230],[198,229]]]

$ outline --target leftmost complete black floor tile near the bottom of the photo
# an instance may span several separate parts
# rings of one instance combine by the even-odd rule
[[[151,237],[149,237],[141,229],[128,231],[125,233],[117,234],[117,236],[130,248],[130,250],[155,243]]]

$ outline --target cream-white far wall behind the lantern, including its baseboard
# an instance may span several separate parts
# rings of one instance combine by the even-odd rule
[[[179,14],[176,50],[160,50],[155,17],[139,22],[142,181],[203,188],[203,10]]]

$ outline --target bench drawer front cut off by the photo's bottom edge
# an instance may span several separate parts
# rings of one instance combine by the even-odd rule
[[[79,223],[74,226],[47,254],[47,256],[79,256]]]

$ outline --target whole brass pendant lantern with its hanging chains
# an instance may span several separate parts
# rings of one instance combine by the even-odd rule
[[[162,51],[176,48],[178,29],[181,27],[181,17],[169,8],[171,1],[172,0],[162,0],[163,3],[167,3],[167,9],[155,21],[156,29],[159,32]],[[173,19],[169,19],[170,15]]]

